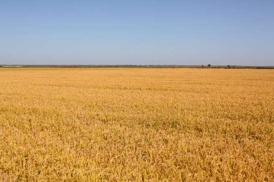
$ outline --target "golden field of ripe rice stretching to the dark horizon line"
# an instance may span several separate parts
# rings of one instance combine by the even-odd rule
[[[0,181],[274,181],[274,70],[0,68]]]

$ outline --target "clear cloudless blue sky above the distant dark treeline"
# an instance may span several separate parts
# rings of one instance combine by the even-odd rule
[[[0,64],[274,65],[274,1],[0,0]]]

